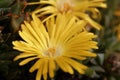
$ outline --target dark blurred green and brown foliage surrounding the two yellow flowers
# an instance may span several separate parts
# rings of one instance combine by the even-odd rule
[[[12,49],[12,41],[19,40],[17,31],[23,20],[30,20],[30,12],[38,5],[26,6],[27,2],[39,0],[0,0],[0,80],[34,80],[35,73],[29,73],[29,63],[18,66],[13,58],[19,54]],[[83,63],[90,68],[85,75],[74,75],[58,70],[53,80],[120,80],[120,0],[106,0],[107,8],[99,9],[103,29],[89,31],[98,35],[99,49],[95,59]]]

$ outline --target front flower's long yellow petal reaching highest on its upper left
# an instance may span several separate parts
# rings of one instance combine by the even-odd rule
[[[32,15],[33,21],[31,21],[31,25],[33,26],[33,29],[36,31],[36,34],[38,35],[38,41],[47,48],[47,44],[49,43],[49,35],[45,28],[45,26],[42,24],[39,18],[37,18],[34,14]]]

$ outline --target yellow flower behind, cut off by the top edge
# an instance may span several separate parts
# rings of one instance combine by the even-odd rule
[[[87,21],[90,25],[99,30],[102,26],[92,20],[89,13],[92,13],[94,18],[100,16],[100,12],[97,8],[106,8],[104,1],[105,0],[40,0],[40,2],[27,3],[27,5],[45,5],[44,7],[39,7],[33,11],[33,14],[36,14],[39,17],[49,15],[46,18],[48,19],[51,16],[68,13],[76,16],[76,19],[79,18]]]

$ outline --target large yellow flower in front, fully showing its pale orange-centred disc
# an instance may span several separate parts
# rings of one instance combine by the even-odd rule
[[[29,23],[24,21],[19,35],[24,41],[13,41],[14,49],[21,51],[14,60],[23,58],[19,65],[35,60],[30,72],[37,70],[36,80],[47,80],[54,77],[54,71],[61,68],[64,72],[74,74],[73,69],[84,74],[87,67],[80,60],[95,57],[90,52],[97,49],[96,37],[93,33],[83,31],[86,22],[77,21],[75,17],[58,15],[51,17],[44,24],[36,15]],[[79,32],[79,33],[78,33]]]

